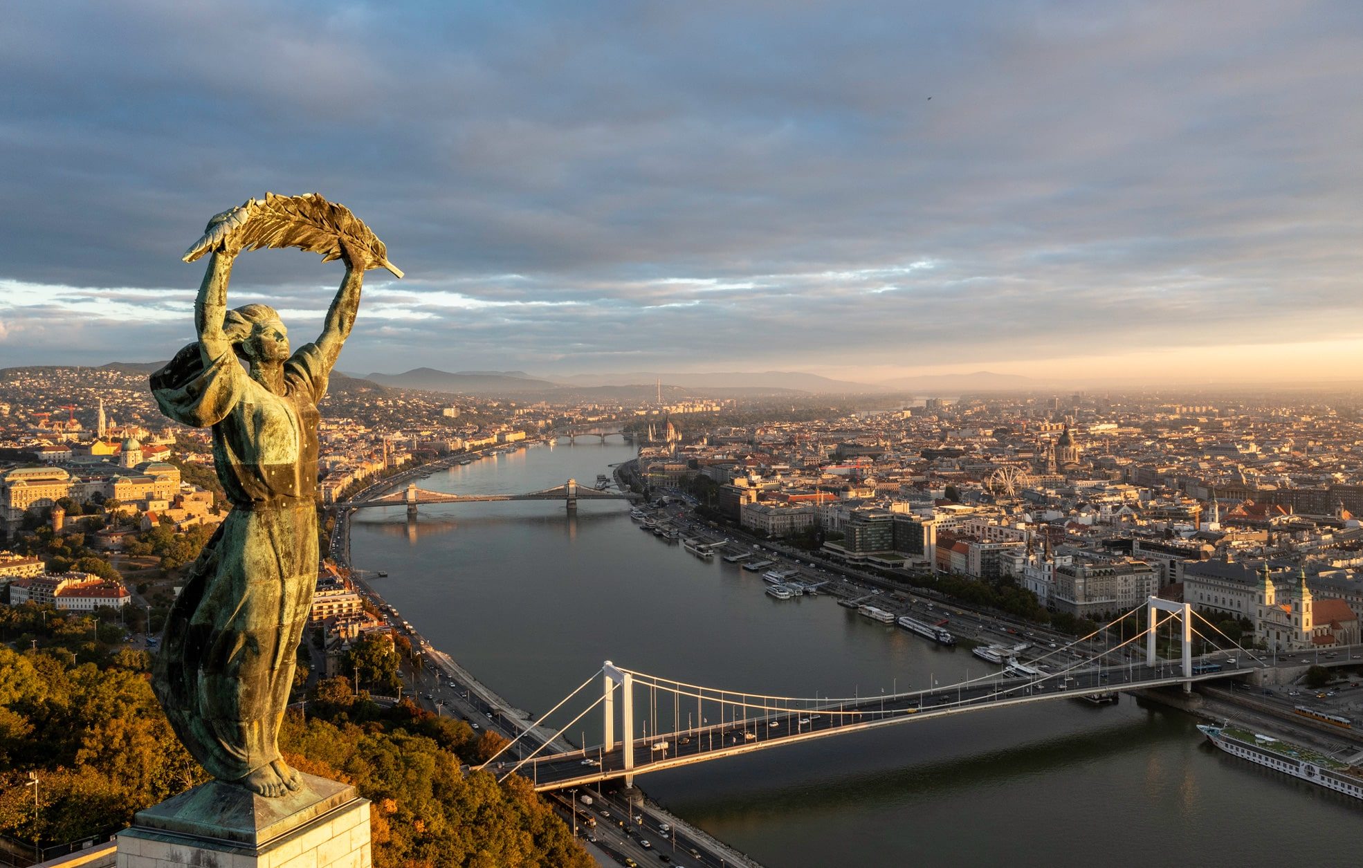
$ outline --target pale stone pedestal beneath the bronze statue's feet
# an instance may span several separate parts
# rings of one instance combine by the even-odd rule
[[[309,774],[264,799],[213,781],[139,811],[117,868],[369,868],[369,803]]]

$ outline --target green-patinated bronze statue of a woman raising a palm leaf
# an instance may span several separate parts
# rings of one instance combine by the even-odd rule
[[[273,308],[226,308],[233,259],[258,247],[345,262],[322,335],[293,353]],[[316,193],[271,193],[218,214],[185,260],[203,253],[199,339],[151,375],[151,391],[170,418],[213,429],[232,511],[185,572],[153,687],[210,774],[278,797],[300,786],[277,739],[318,575],[318,402],[354,324],[365,270],[401,271],[364,223]]]

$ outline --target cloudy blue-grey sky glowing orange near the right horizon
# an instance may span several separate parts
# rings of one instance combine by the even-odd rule
[[[166,358],[350,206],[352,372],[1356,376],[1363,4],[16,3],[0,365]],[[244,255],[296,342],[341,275]]]

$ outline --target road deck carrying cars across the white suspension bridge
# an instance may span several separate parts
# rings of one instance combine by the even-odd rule
[[[769,714],[747,721],[731,721],[722,725],[699,726],[690,730],[664,733],[649,737],[647,743],[637,740],[634,747],[634,769],[624,769],[623,748],[602,751],[600,747],[571,754],[557,754],[536,758],[521,766],[518,774],[529,778],[537,790],[553,790],[566,786],[582,786],[597,784],[626,774],[646,774],[661,771],[691,763],[701,763],[724,756],[736,756],[767,748],[840,736],[851,732],[893,726],[912,721],[935,719],[951,714],[965,714],[983,711],[987,709],[1005,709],[1036,702],[1051,702],[1055,699],[1073,699],[1090,694],[1108,691],[1130,691],[1150,687],[1168,687],[1184,684],[1186,681],[1208,681],[1224,679],[1235,675],[1246,675],[1259,666],[1246,664],[1223,664],[1220,672],[1195,675],[1184,679],[1178,675],[1176,666],[1111,666],[1099,669],[1073,670],[1074,677],[1066,689],[1058,687],[1058,677],[1052,676],[1035,683],[1015,679],[996,679],[979,681],[957,689],[938,688],[913,694],[900,694],[897,696],[860,699],[856,703],[821,704],[808,710],[792,710],[789,713]],[[740,694],[728,694],[740,696]],[[687,702],[680,699],[680,702]],[[841,713],[840,713],[841,711]],[[856,714],[846,714],[856,711]],[[808,721],[801,724],[800,721]],[[752,734],[747,739],[744,733]],[[654,751],[653,744],[668,741],[667,751]],[[596,764],[587,764],[587,760]],[[512,763],[506,763],[504,770],[510,770]],[[496,769],[493,769],[496,770]]]

